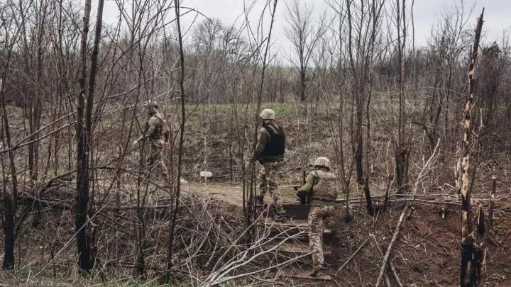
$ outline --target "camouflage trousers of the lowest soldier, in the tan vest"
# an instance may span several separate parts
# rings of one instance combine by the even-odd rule
[[[309,246],[312,249],[312,264],[324,263],[323,218],[334,211],[334,206],[311,206],[309,210]]]

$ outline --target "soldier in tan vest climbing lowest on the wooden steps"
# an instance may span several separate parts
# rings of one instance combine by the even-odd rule
[[[324,264],[323,257],[323,218],[334,210],[337,198],[337,177],[330,172],[330,160],[318,157],[314,161],[314,171],[309,172],[304,186],[298,189],[296,195],[309,199],[309,246],[312,249],[312,271],[310,276],[316,276]]]

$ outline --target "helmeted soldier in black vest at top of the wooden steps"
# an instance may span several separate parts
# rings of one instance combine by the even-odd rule
[[[275,123],[275,112],[270,108],[265,108],[260,113],[263,120],[263,127],[258,133],[258,143],[255,147],[253,159],[258,161],[263,167],[259,174],[260,194],[255,196],[258,204],[263,204],[263,198],[266,191],[270,191],[272,201],[270,207],[273,208],[274,220],[284,221],[287,213],[282,208],[282,198],[278,191],[277,172],[282,167],[285,152],[285,134],[284,129]]]

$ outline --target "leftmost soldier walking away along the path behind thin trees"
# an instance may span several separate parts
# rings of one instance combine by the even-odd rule
[[[152,171],[156,165],[159,165],[165,179],[165,184],[167,184],[168,172],[167,166],[163,161],[163,148],[166,148],[170,145],[170,130],[168,128],[165,117],[160,113],[159,109],[160,104],[155,101],[148,101],[148,120],[145,122],[144,132],[142,133],[141,137],[138,137],[138,139],[133,142],[133,145],[138,145],[138,142],[149,140],[150,152],[147,159],[147,169]]]

